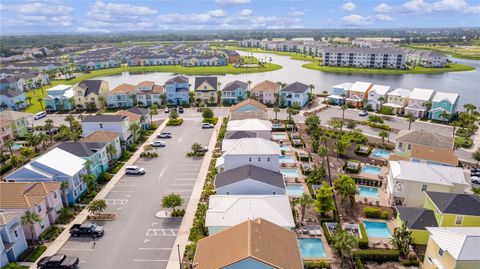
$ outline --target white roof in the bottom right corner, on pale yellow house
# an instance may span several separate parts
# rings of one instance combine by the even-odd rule
[[[457,261],[480,261],[479,227],[426,227],[430,238]]]

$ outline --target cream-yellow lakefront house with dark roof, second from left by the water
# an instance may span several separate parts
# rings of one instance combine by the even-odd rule
[[[75,105],[80,109],[100,109],[105,106],[110,91],[104,80],[84,80],[73,87]]]

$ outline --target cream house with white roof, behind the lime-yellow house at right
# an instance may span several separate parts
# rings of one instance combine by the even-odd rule
[[[423,192],[464,193],[469,186],[462,168],[409,161],[390,161],[387,197],[392,205],[423,207]]]

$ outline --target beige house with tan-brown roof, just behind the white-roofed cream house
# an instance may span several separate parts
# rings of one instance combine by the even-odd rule
[[[440,165],[458,165],[455,139],[424,130],[401,130],[390,160],[408,160]]]

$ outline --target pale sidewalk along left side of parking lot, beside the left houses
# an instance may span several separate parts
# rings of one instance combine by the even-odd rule
[[[95,196],[95,200],[97,199],[104,199],[107,194],[112,190],[112,188],[117,184],[117,182],[124,176],[125,174],[125,167],[132,165],[134,162],[137,161],[137,159],[140,157],[140,153],[143,151],[143,146],[153,142],[153,140],[157,137],[157,135],[165,128],[167,125],[167,121],[165,120],[158,128],[155,130],[155,132],[142,144],[138,147],[138,150],[128,159],[128,161],[125,162],[125,164],[122,166],[122,168],[116,173],[113,178],[103,187],[102,190],[100,190],[97,195]],[[53,242],[50,242],[48,244],[47,250],[38,258],[41,259],[45,256],[51,256],[55,255],[62,247],[63,245],[68,241],[70,238],[70,228],[72,227],[73,224],[75,223],[83,223],[88,216],[88,210],[87,208],[83,209],[76,217],[74,220],[72,220],[69,224],[64,225],[65,230],[55,239]],[[30,266],[30,269],[36,269],[37,265],[36,262]]]

